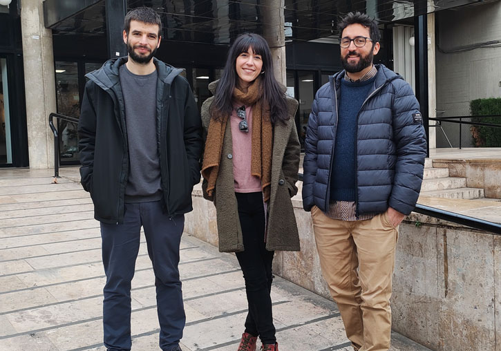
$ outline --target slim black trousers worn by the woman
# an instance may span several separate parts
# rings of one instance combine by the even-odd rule
[[[259,336],[265,344],[276,342],[272,316],[273,251],[265,248],[265,209],[263,193],[236,193],[238,217],[245,251],[236,258],[245,279],[249,312],[245,332]]]

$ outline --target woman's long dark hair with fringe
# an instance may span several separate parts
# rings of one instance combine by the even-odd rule
[[[285,93],[283,93],[281,86],[276,82],[273,74],[273,61],[272,54],[270,53],[270,46],[266,40],[254,33],[245,33],[237,37],[229,48],[228,57],[223,70],[223,75],[218,82],[216,94],[214,94],[214,101],[211,104],[211,112],[214,117],[231,115],[233,110],[233,91],[236,86],[236,58],[241,53],[245,53],[252,48],[254,54],[261,55],[263,59],[263,68],[261,75],[263,79],[263,99],[270,106],[270,120],[273,124],[278,121],[286,121],[290,119],[287,113],[287,100]]]

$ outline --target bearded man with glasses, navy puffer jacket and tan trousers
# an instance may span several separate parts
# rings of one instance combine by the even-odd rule
[[[390,348],[391,282],[398,227],[421,188],[426,139],[404,79],[372,64],[377,22],[339,22],[344,70],[316,93],[303,162],[323,276],[359,351]]]

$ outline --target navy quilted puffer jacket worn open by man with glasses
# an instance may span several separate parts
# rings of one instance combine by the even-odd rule
[[[376,65],[374,86],[357,116],[357,213],[382,213],[389,207],[413,211],[423,178],[426,136],[419,103],[404,79]],[[331,76],[312,105],[303,162],[303,207],[327,211],[332,155],[337,133],[341,78]]]

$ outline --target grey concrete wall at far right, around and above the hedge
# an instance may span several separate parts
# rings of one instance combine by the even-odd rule
[[[501,40],[501,2],[437,12],[437,44],[445,52],[486,41]],[[437,49],[438,117],[469,115],[473,99],[501,97],[501,43],[458,53]],[[454,147],[459,126],[443,124]],[[462,146],[473,146],[470,126],[462,127]],[[437,147],[448,147],[437,130]]]

